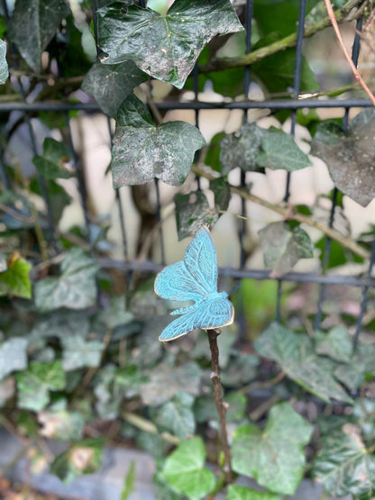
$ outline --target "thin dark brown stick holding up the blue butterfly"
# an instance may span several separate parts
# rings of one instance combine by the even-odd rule
[[[220,368],[219,368],[219,347],[217,345],[217,336],[221,333],[220,330],[207,330],[208,341],[211,350],[211,380],[214,386],[215,404],[217,413],[219,414],[220,422],[220,441],[222,443],[222,450],[224,452],[224,474],[227,484],[233,483],[233,472],[231,466],[231,451],[228,443],[228,434],[226,432],[225,414],[228,409],[228,404],[223,401],[222,383],[220,381]]]

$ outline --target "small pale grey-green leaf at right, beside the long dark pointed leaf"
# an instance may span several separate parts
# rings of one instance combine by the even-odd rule
[[[328,333],[316,332],[316,352],[336,361],[352,359],[352,339],[342,325],[334,326]]]

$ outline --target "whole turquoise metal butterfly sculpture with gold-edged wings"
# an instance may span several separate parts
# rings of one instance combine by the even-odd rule
[[[233,323],[233,305],[225,292],[217,291],[216,250],[206,227],[190,242],[183,260],[158,274],[155,292],[168,300],[195,303],[171,313],[181,315],[164,328],[160,341],[172,341],[196,328],[210,330]]]

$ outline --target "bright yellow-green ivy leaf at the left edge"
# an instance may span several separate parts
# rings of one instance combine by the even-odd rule
[[[0,295],[32,298],[31,268],[31,264],[14,251],[8,259],[7,269],[0,272]]]

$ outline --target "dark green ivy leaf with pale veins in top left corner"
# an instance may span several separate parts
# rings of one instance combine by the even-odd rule
[[[10,40],[36,73],[41,72],[41,52],[68,14],[64,0],[16,0],[9,26]]]

